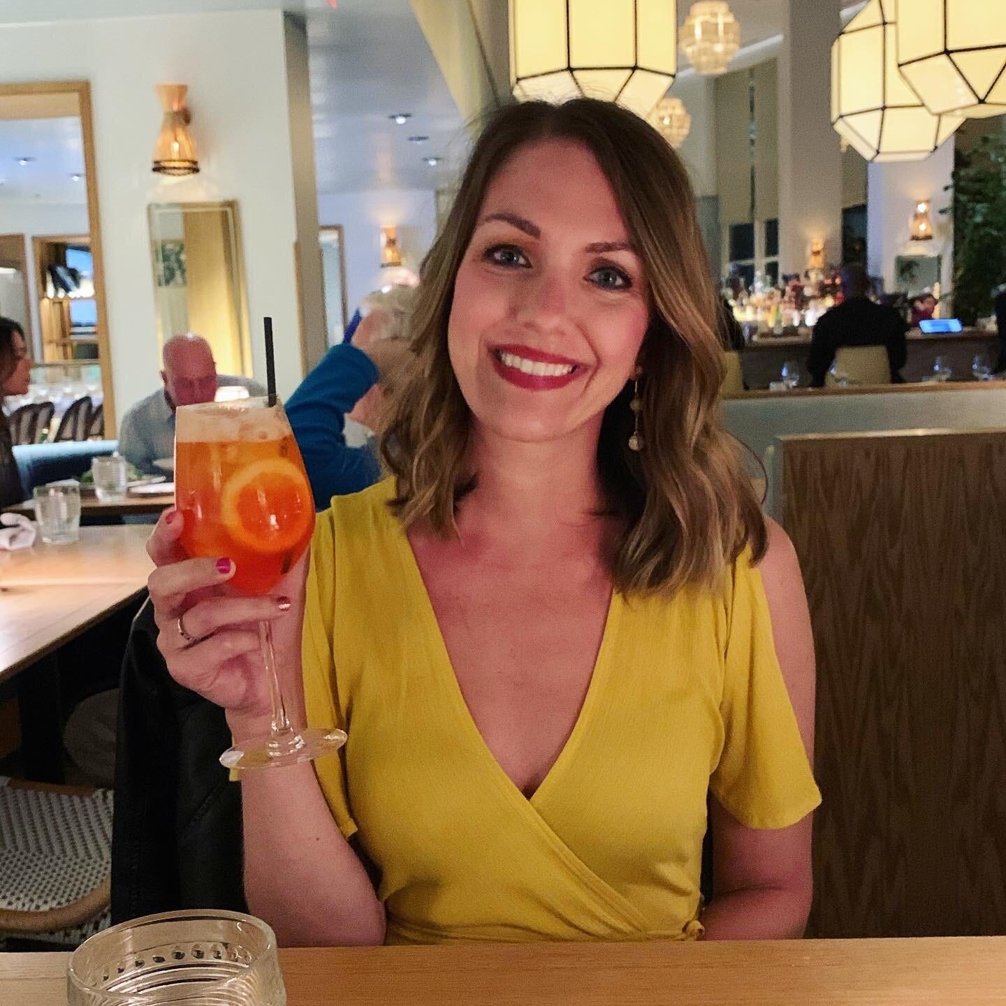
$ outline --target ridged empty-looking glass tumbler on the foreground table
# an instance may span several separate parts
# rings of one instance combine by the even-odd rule
[[[120,923],[70,956],[68,1006],[286,1006],[276,936],[239,911]]]

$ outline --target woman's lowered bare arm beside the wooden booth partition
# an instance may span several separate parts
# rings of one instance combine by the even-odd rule
[[[786,532],[769,522],[759,567],[773,639],[807,757],[814,764],[814,638],[800,564]],[[707,940],[803,936],[813,894],[812,815],[789,828],[747,828],[712,798],[715,896],[702,918]]]

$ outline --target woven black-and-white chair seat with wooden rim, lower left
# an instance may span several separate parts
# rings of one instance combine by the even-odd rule
[[[107,926],[111,791],[11,780],[0,785],[0,808],[13,836],[4,849],[0,939],[69,947]]]

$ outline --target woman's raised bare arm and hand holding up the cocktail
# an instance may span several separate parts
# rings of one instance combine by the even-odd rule
[[[232,563],[227,569],[213,559],[185,558],[178,543],[183,524],[182,514],[169,511],[147,546],[158,567],[149,581],[160,629],[157,645],[171,676],[222,706],[238,742],[268,733],[257,623],[269,619],[288,710],[295,722],[303,722],[301,625],[308,556],[274,596],[236,597],[225,586]],[[197,642],[183,641],[179,618]],[[384,907],[342,837],[310,765],[242,773],[241,803],[245,897],[281,945],[383,942]]]

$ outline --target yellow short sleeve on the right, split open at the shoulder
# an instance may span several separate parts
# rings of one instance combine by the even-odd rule
[[[720,716],[716,799],[748,828],[786,828],[821,803],[776,656],[762,575],[747,554],[734,567]]]

